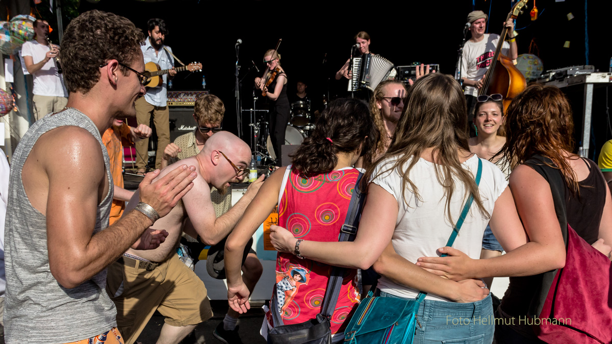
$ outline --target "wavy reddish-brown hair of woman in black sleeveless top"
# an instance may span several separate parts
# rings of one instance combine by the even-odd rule
[[[572,154],[572,107],[563,92],[534,84],[517,95],[506,112],[506,145],[497,155],[504,154],[512,167],[536,154],[548,157],[554,164],[550,167],[561,170],[570,191],[577,194],[577,176],[563,153],[577,156]]]

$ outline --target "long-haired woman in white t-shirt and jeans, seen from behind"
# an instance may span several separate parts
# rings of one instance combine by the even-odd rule
[[[374,265],[383,276],[379,296],[414,299],[419,291],[427,293],[414,343],[493,340],[493,308],[482,281],[453,282],[415,264],[444,247],[469,193],[474,203],[453,247],[478,259],[487,223],[494,232],[504,226],[498,239],[506,250],[526,242],[499,168],[482,160],[480,184],[474,181],[479,158],[469,151],[467,126],[465,97],[452,77],[436,73],[417,80],[389,150],[364,177],[371,182],[355,241],[299,246],[301,256],[323,263]],[[271,237],[278,250],[294,252],[291,233],[274,227]]]

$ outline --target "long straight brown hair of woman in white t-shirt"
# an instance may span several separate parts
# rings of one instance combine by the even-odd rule
[[[456,177],[466,185],[463,199],[469,193],[474,195],[474,201],[482,214],[490,216],[480,200],[480,193],[474,181],[474,174],[466,171],[459,161],[458,151],[461,149],[469,154],[468,146],[468,109],[465,96],[457,81],[449,75],[431,73],[425,75],[408,89],[408,100],[404,106],[400,121],[395,129],[395,135],[386,154],[376,163],[389,159],[390,166],[380,171],[376,176],[397,168],[403,179],[401,196],[406,204],[405,191],[414,193],[417,200],[422,200],[416,185],[408,175],[410,170],[427,148],[433,148],[436,159],[435,171],[438,182],[444,188],[446,196],[446,215],[453,222],[450,214],[450,200],[455,191]],[[381,169],[382,170],[382,169]],[[371,180],[372,171],[364,178]]]

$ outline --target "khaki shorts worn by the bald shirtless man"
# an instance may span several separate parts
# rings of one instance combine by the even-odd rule
[[[106,292],[117,307],[117,326],[132,344],[158,310],[171,326],[196,325],[212,317],[200,277],[174,255],[147,271],[114,262],[108,267]]]

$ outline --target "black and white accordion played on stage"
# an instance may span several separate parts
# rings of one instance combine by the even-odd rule
[[[375,54],[363,54],[353,58],[353,78],[348,81],[348,91],[368,88],[374,91],[381,81],[394,79],[397,75],[394,64]]]

